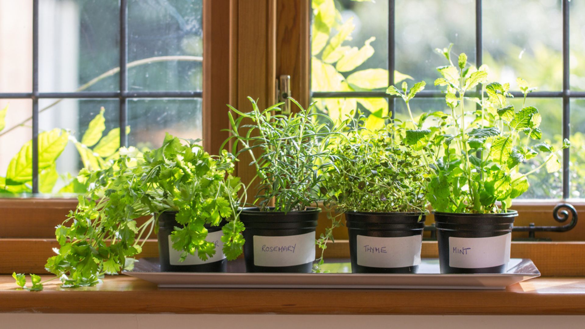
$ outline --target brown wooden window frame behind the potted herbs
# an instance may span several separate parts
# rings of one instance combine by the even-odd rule
[[[261,107],[273,104],[276,78],[281,74],[291,76],[292,97],[305,107],[309,105],[311,7],[308,0],[204,0],[203,12],[204,148],[216,153],[228,136],[222,132],[229,128],[225,104],[249,109],[248,95],[256,98]],[[238,166],[237,173],[243,181],[254,176],[253,167],[245,165]],[[515,201],[513,208],[519,213],[515,224],[559,225],[552,218],[556,203],[556,200]],[[3,260],[0,273],[12,273],[16,268],[24,272],[42,271],[44,260],[56,246],[53,228],[76,204],[76,199],[66,198],[0,198],[0,259]],[[578,213],[585,211],[585,203],[573,205]],[[430,222],[432,216],[428,218]],[[327,224],[324,211],[318,231]],[[347,230],[336,229],[335,235],[337,239],[347,239]],[[526,237],[526,233],[518,232],[514,237]],[[542,259],[542,266],[548,266],[543,274],[585,275],[585,259],[559,268],[569,257],[585,252],[585,242],[569,242],[585,241],[583,220],[572,231],[538,232],[536,237],[555,242],[518,242],[512,247],[512,256]],[[330,250],[330,257],[349,257],[345,241]],[[423,256],[436,256],[435,250],[436,242],[425,242]],[[145,245],[142,256],[156,255],[153,239]]]

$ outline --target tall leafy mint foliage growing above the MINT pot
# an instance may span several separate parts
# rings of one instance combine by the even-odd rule
[[[549,173],[560,169],[558,150],[538,142],[542,118],[538,109],[526,105],[532,91],[526,81],[518,79],[524,102],[515,109],[507,100],[512,97],[510,84],[488,83],[487,66],[468,64],[464,53],[453,64],[450,49],[439,50],[449,64],[438,67],[442,77],[435,81],[446,88],[450,115],[421,116],[416,129],[407,131],[411,136],[407,143],[425,154],[431,179],[426,196],[435,211],[505,213],[512,199],[528,190],[526,176],[542,167]],[[466,97],[477,85],[480,98]],[[398,92],[393,87],[389,91]],[[409,99],[405,98],[407,105]],[[433,116],[438,123],[424,128],[425,120]],[[568,146],[565,140],[563,148]],[[519,172],[519,164],[537,156],[542,158],[538,167]]]

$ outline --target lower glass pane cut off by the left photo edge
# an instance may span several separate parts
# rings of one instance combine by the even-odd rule
[[[5,127],[0,129],[0,197],[32,191],[32,162],[30,161],[32,153],[30,157],[27,157],[25,147],[26,143],[32,139],[32,129],[30,129],[32,105],[31,100],[0,99],[0,110],[8,106]],[[24,150],[20,153],[23,147]],[[19,153],[23,156],[18,156]],[[14,161],[11,166],[12,159]],[[11,167],[10,171],[9,167]]]

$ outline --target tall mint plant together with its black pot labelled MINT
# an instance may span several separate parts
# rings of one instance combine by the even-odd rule
[[[512,199],[528,190],[529,174],[544,167],[556,172],[560,163],[552,146],[536,142],[542,118],[526,105],[532,90],[526,81],[517,80],[524,100],[515,109],[508,101],[510,84],[488,83],[487,67],[470,66],[464,53],[454,65],[450,48],[441,50],[449,64],[438,68],[442,77],[435,81],[446,87],[450,114],[410,132],[416,136],[412,145],[424,145],[429,163],[427,199],[435,215],[441,273],[503,273],[517,216]],[[477,85],[480,97],[467,98]],[[563,147],[568,145],[565,140]],[[541,163],[523,173],[521,163],[537,156]]]

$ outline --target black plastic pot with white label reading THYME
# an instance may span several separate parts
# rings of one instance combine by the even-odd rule
[[[421,215],[345,213],[352,272],[417,273],[426,219]]]

